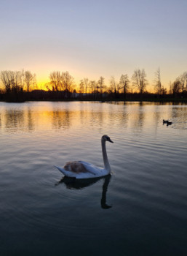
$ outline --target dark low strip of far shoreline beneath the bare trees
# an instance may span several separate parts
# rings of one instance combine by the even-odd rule
[[[19,91],[9,94],[1,93],[0,102],[187,102],[187,92],[182,94],[151,94],[151,93],[127,93],[127,94],[80,94],[70,91]]]

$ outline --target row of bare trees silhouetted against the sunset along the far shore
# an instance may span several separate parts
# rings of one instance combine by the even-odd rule
[[[126,100],[129,94],[139,94],[140,97],[143,94],[149,94],[146,89],[148,86],[146,76],[145,69],[135,69],[131,78],[127,74],[122,74],[117,81],[114,76],[111,76],[108,84],[103,76],[100,76],[98,80],[83,78],[76,84],[73,76],[68,71],[54,71],[49,74],[49,82],[45,86],[49,92],[48,95],[57,99],[70,99],[72,94],[79,94],[79,97],[85,99],[88,97],[99,99],[103,95],[109,95],[111,99]],[[19,97],[23,97],[23,94],[29,94],[38,89],[36,75],[29,70],[4,70],[0,73],[0,79],[1,94],[5,94],[5,98],[10,101],[16,101]],[[170,82],[170,88],[167,91],[161,81],[160,69],[157,69],[152,85],[157,98],[166,94],[185,96],[187,94],[187,72],[179,75],[173,83]]]

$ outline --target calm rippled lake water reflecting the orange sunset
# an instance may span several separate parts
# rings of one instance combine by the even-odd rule
[[[0,132],[0,255],[187,255],[186,105],[1,102]],[[62,179],[104,134],[112,175]]]

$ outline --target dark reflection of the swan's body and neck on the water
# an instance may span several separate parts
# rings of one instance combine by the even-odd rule
[[[108,189],[108,184],[111,181],[111,174],[108,174],[105,177],[99,177],[99,178],[87,178],[87,179],[76,179],[76,178],[70,178],[67,176],[64,176],[57,184],[65,184],[67,189],[84,189],[85,187],[89,187],[92,184],[95,184],[96,182],[100,181],[100,179],[104,179],[103,183],[103,192],[102,197],[100,200],[100,205],[103,209],[111,208],[112,206],[108,206],[106,204],[106,192]]]

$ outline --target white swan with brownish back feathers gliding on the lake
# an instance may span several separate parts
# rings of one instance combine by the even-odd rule
[[[63,168],[58,166],[55,167],[57,167],[57,169],[65,176],[72,178],[97,178],[108,175],[108,173],[111,172],[111,166],[106,154],[106,141],[114,143],[107,135],[103,135],[101,138],[104,168],[97,167],[84,161],[67,162]]]

